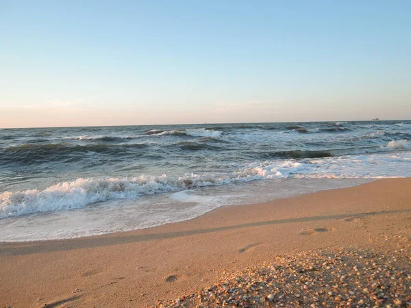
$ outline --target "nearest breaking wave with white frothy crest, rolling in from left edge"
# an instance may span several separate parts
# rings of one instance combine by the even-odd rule
[[[0,218],[77,209],[101,201],[253,181],[262,177],[270,178],[255,170],[242,170],[231,175],[189,175],[178,179],[169,179],[166,175],[142,175],[132,179],[76,179],[52,185],[45,190],[3,192],[0,194]]]

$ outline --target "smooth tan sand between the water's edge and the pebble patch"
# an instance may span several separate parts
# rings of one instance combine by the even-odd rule
[[[150,229],[0,243],[0,307],[147,307],[279,255],[395,251],[409,240],[411,179],[381,179]]]

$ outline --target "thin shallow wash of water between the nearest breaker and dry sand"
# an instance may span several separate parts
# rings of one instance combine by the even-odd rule
[[[317,190],[358,185],[364,179],[284,179],[197,188],[135,200],[107,201],[75,211],[0,219],[0,241],[58,240],[131,231],[189,220],[223,205],[260,203]]]

